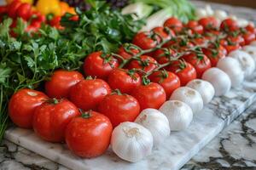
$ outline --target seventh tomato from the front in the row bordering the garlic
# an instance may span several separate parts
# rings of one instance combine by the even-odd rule
[[[208,59],[210,59],[212,66],[216,66],[218,64],[218,60],[225,57],[224,52],[226,53],[223,46],[219,46],[219,48],[202,48],[202,51],[207,55]]]

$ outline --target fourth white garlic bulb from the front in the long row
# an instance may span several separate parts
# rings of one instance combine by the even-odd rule
[[[201,94],[189,87],[181,87],[174,90],[170,100],[179,100],[184,102],[190,106],[194,114],[201,111],[204,106]]]

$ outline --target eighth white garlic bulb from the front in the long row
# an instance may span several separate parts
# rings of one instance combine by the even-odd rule
[[[250,77],[255,70],[255,63],[250,54],[241,50],[232,51],[230,57],[237,59],[241,65],[241,70],[244,71],[244,77]]]

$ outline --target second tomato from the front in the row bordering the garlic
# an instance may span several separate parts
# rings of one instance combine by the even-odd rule
[[[121,122],[133,122],[140,113],[140,105],[129,94],[108,94],[98,106],[98,111],[108,116],[116,127]]]

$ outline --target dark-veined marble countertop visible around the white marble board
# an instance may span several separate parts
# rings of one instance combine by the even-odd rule
[[[206,3],[193,1],[197,6]],[[212,3],[211,3],[212,4]],[[212,4],[238,17],[256,20],[256,10]],[[256,102],[207,144],[182,169],[256,169]],[[67,170],[7,140],[0,146],[0,170]]]

